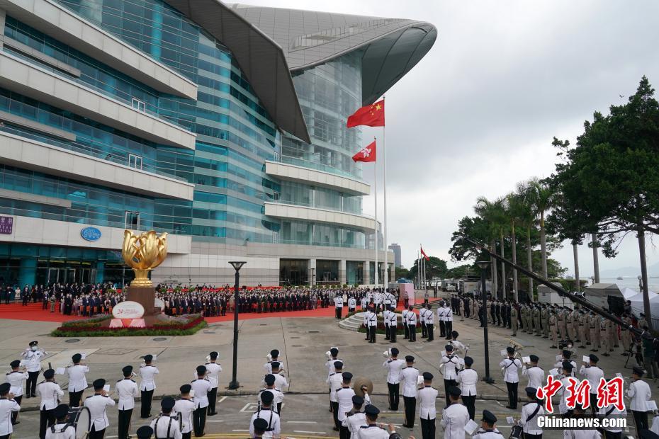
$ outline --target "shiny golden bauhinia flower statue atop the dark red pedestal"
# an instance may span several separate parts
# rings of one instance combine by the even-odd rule
[[[152,287],[149,272],[167,258],[167,233],[160,236],[154,230],[140,235],[131,230],[123,232],[123,260],[135,272],[132,287]]]

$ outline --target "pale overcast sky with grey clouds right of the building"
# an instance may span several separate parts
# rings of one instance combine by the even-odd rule
[[[643,74],[659,87],[659,1],[241,3],[414,18],[437,28],[430,52],[386,93],[388,235],[407,267],[419,243],[448,259],[451,233],[473,215],[479,195],[496,198],[518,181],[551,174],[553,136],[574,144],[583,121],[626,101]],[[364,139],[380,132],[368,128]],[[371,168],[364,166],[367,181]],[[370,197],[364,213],[372,212]],[[634,236],[620,250],[615,259],[600,257],[600,269],[638,267]],[[553,257],[573,273],[571,246]],[[648,246],[648,263],[658,261]],[[580,271],[592,273],[587,247]]]

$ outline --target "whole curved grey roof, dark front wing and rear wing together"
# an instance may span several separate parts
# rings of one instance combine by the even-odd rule
[[[164,0],[223,42],[278,127],[311,142],[291,72],[362,50],[362,105],[373,103],[430,50],[424,21]]]

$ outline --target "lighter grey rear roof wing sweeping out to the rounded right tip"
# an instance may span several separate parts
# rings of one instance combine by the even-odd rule
[[[364,50],[362,105],[373,103],[390,89],[426,55],[437,38],[434,25],[424,21],[244,4],[227,6],[277,42],[291,71]]]

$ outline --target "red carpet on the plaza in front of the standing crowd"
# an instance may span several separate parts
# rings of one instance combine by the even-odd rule
[[[431,302],[435,302],[432,300]],[[416,303],[422,303],[423,299],[417,300]],[[400,308],[400,307],[399,307]],[[55,309],[58,309],[57,305]],[[344,308],[343,315],[347,314],[347,308]],[[285,312],[266,312],[259,314],[258,312],[250,312],[246,314],[238,314],[238,319],[247,320],[247,319],[267,319],[270,317],[334,317],[334,307],[328,308],[317,308],[308,311],[285,311]],[[62,323],[62,321],[84,319],[84,317],[79,316],[65,316],[60,314],[60,312],[50,312],[50,307],[48,309],[42,309],[41,303],[30,303],[28,306],[23,307],[19,303],[11,304],[0,304],[0,319],[11,319],[11,320],[28,320],[28,321],[52,321],[56,323]],[[227,314],[224,317],[207,317],[206,321],[209,323],[214,323],[216,321],[232,321],[233,314]]]

